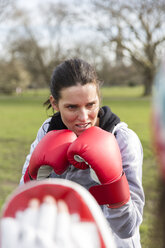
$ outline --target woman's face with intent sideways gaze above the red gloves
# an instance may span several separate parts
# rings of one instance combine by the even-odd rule
[[[58,103],[50,96],[52,107],[59,111],[63,123],[77,136],[92,126],[98,126],[99,96],[94,83],[76,85],[61,90]]]

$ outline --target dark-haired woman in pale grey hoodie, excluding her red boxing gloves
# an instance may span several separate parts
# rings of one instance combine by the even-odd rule
[[[115,135],[122,157],[122,167],[125,172],[130,200],[123,206],[111,209],[101,206],[102,211],[112,229],[117,247],[140,248],[139,226],[142,222],[144,193],[142,188],[143,151],[137,135],[120,122],[118,116],[105,106],[100,107],[100,82],[91,65],[81,59],[64,61],[53,72],[50,90],[51,95],[46,102],[48,108],[57,111],[46,120],[38,131],[36,140],[31,145],[27,156],[23,175],[29,165],[31,154],[39,141],[51,130],[69,129],[79,138],[90,127],[98,126]],[[75,181],[89,189],[95,182],[90,170],[80,170],[70,165],[62,174],[52,172],[52,168],[41,167],[39,177],[60,177]],[[50,174],[50,175],[49,175]],[[21,179],[23,183],[23,176]]]

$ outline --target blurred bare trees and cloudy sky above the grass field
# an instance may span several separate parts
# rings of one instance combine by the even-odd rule
[[[49,85],[68,57],[94,64],[105,85],[150,95],[165,42],[163,0],[0,0],[0,91]]]

